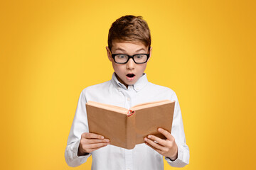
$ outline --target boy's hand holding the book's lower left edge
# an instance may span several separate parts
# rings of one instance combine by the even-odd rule
[[[78,157],[85,153],[90,153],[101,147],[105,147],[110,144],[110,140],[104,139],[102,135],[95,133],[84,132],[81,135],[81,140],[78,147]]]

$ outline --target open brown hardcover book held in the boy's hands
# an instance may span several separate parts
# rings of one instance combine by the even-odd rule
[[[158,132],[171,132],[175,101],[155,101],[126,108],[88,101],[86,103],[89,132],[110,139],[110,145],[132,149],[144,143],[147,135],[166,139]]]

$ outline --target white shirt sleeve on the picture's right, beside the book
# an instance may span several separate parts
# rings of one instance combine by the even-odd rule
[[[189,149],[188,145],[186,145],[185,132],[181,117],[181,108],[175,93],[172,95],[171,100],[175,101],[174,120],[171,128],[171,135],[174,136],[175,142],[178,146],[178,157],[174,161],[171,161],[169,157],[165,157],[165,160],[173,167],[183,167],[189,163]]]

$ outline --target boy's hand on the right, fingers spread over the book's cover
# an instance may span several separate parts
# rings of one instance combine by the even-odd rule
[[[159,128],[158,130],[166,137],[166,140],[162,140],[154,135],[148,135],[147,137],[144,137],[145,144],[156,150],[156,152],[159,152],[159,154],[164,157],[169,157],[174,161],[178,157],[178,146],[176,145],[174,137],[171,133],[162,128]]]

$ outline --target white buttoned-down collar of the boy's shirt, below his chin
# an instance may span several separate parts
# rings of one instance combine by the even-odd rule
[[[118,81],[115,73],[112,74],[112,84],[114,84],[115,86],[117,86],[117,88],[122,88],[127,90],[126,86],[124,86],[124,84],[120,83],[120,81]],[[141,90],[149,81],[146,78],[146,73],[142,74],[142,77],[139,77],[139,79],[137,80],[137,82],[135,84],[132,85],[133,89],[135,91],[139,91]]]

